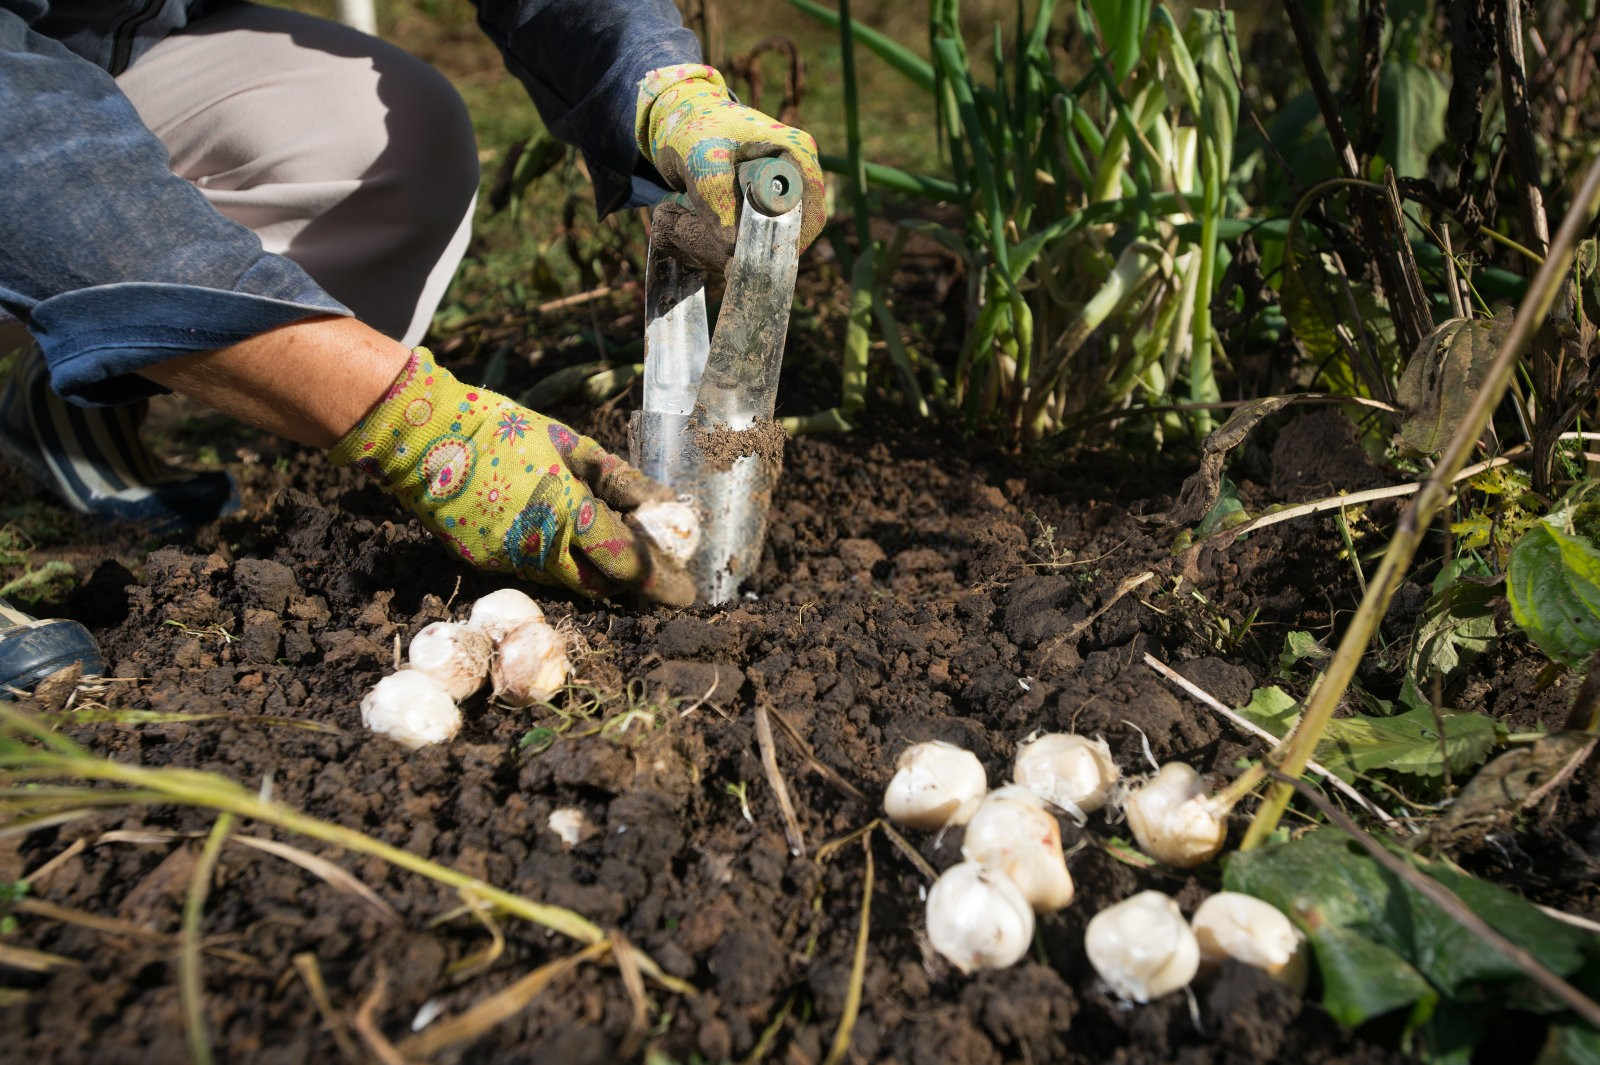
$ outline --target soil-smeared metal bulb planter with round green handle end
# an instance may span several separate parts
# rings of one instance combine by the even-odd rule
[[[699,598],[726,603],[762,558],[766,510],[782,467],[773,422],[800,237],[800,171],[782,158],[739,168],[744,209],[725,272],[717,331],[706,277],[650,248],[645,277],[645,401],[634,464],[694,499]]]

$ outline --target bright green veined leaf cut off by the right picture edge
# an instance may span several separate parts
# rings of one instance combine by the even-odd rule
[[[1600,648],[1600,552],[1550,520],[1517,540],[1506,571],[1510,614],[1557,662],[1579,665]]]

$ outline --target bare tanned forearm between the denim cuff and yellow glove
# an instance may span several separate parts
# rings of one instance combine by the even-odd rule
[[[382,398],[408,355],[354,318],[310,318],[141,373],[258,429],[331,448]]]

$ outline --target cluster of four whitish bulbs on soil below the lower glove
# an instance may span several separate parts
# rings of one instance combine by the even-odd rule
[[[406,668],[362,699],[362,723],[411,750],[453,739],[461,729],[456,704],[490,676],[496,699],[526,707],[550,699],[571,673],[566,640],[517,588],[485,595],[466,624],[424,625],[406,659]]]

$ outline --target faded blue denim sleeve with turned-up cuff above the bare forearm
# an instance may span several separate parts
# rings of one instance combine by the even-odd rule
[[[168,168],[109,74],[0,8],[0,307],[82,403],[160,392],[138,369],[349,313]]]

